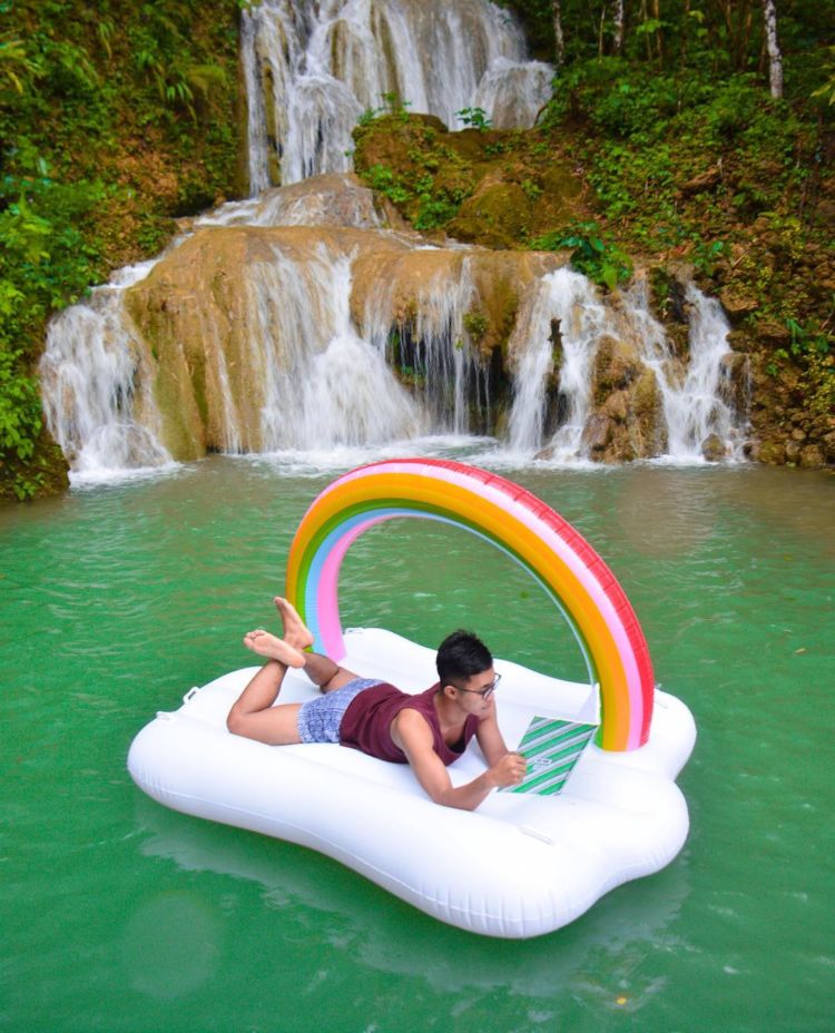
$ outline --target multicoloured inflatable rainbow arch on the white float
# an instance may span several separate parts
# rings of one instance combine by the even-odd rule
[[[598,745],[647,742],[655,680],[644,633],[623,590],[589,543],[550,506],[504,478],[446,460],[372,463],[337,478],[313,502],[287,561],[286,596],[314,633],[314,649],[345,656],[338,577],[351,544],[395,516],[464,528],[517,560],[571,623],[600,686]]]

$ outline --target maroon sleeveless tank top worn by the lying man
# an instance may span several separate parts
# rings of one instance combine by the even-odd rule
[[[479,718],[471,714],[464,722],[464,730],[458,742],[448,746],[441,734],[441,724],[433,702],[438,686],[425,692],[412,696],[383,682],[364,689],[348,704],[340,725],[340,742],[354,749],[391,760],[394,764],[409,764],[403,750],[395,746],[391,736],[391,724],[395,716],[405,709],[416,710],[429,722],[434,739],[434,750],[444,764],[452,764],[463,754],[466,745],[475,735]]]

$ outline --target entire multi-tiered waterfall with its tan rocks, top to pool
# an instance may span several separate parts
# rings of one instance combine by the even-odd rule
[[[186,260],[157,295],[149,288],[144,326],[125,296],[155,278],[154,263],[124,270],[49,327],[45,411],[75,479],[206,449],[322,455],[497,429],[504,441],[491,454],[512,462],[694,461],[710,439],[714,456],[735,454],[718,303],[687,288],[681,356],[640,284],[603,297],[553,259],[523,275],[523,263],[511,263],[517,273],[505,263],[495,275],[513,283],[519,308],[504,412],[482,343],[484,252],[381,229],[374,195],[344,171],[350,129],[382,92],[452,124],[471,105],[497,124],[530,121],[551,70],[523,60],[505,12],[484,0],[266,0],[243,21],[261,193],[207,213],[175,242],[160,263],[198,242],[189,254],[209,260],[195,278]],[[420,55],[431,57],[426,69]],[[285,181],[337,171],[269,188],[279,160]],[[238,250],[224,265],[232,238]],[[149,343],[160,326],[165,356]]]

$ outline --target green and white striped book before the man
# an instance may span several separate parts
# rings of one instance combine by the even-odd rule
[[[518,786],[507,786],[499,791],[537,793],[540,796],[561,793],[597,729],[597,725],[553,717],[532,718],[517,747],[517,752],[528,761],[524,778]]]

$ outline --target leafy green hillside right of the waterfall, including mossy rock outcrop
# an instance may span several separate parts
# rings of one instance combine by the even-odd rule
[[[553,59],[551,4],[515,7]],[[493,130],[468,109],[448,132],[386,97],[355,131],[357,170],[423,232],[569,248],[606,289],[644,268],[679,350],[681,281],[696,278],[721,299],[749,370],[752,456],[835,462],[832,16],[780,6],[775,98],[759,3],[726,6],[728,20],[718,2],[665,4],[664,19],[626,22],[617,53],[591,7],[593,18],[563,0],[564,59],[534,129]]]

